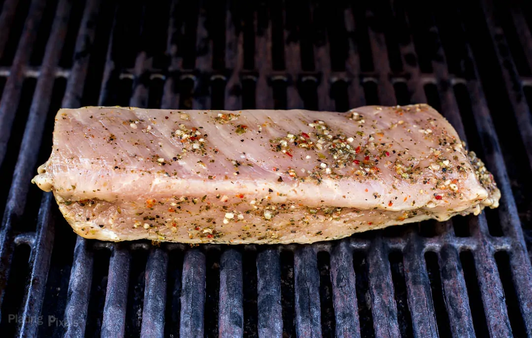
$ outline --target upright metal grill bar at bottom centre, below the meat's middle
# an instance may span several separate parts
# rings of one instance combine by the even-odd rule
[[[257,284],[259,337],[280,337],[282,308],[279,251],[266,249],[257,255]]]

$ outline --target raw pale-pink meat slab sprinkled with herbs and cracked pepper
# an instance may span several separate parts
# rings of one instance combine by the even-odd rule
[[[500,199],[425,104],[304,110],[61,109],[33,182],[73,230],[109,241],[311,243]]]

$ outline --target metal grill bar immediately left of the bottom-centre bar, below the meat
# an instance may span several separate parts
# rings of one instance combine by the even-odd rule
[[[242,337],[244,334],[242,292],[242,255],[236,250],[227,250],[220,258],[220,337]]]

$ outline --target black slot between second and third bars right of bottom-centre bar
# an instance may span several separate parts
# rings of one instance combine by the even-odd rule
[[[356,301],[359,307],[360,336],[361,338],[375,338],[369,291],[368,262],[365,252],[353,252],[353,268],[355,271]]]

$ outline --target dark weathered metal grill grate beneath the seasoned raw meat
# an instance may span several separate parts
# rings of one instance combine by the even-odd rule
[[[0,0],[2,337],[532,337],[525,2]],[[76,236],[31,178],[60,107],[427,102],[501,206],[312,245]]]

